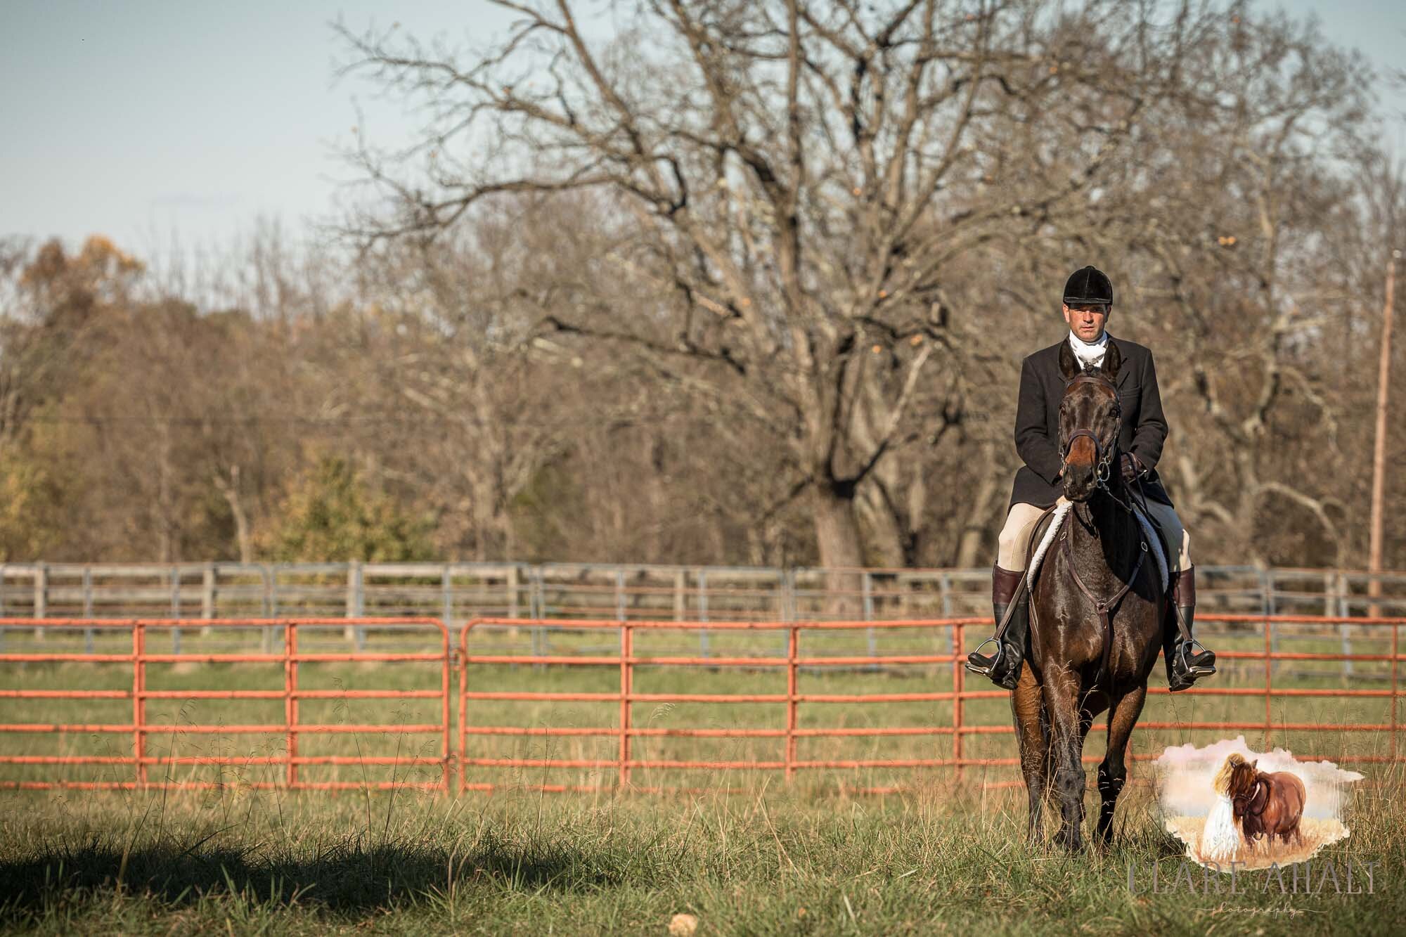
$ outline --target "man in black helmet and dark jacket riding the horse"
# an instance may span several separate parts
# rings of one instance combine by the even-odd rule
[[[1000,625],[1025,577],[1025,557],[1035,523],[1045,508],[1062,498],[1059,481],[1064,471],[1064,457],[1059,449],[1059,415],[1066,378],[1060,373],[1059,357],[1066,342],[1085,370],[1102,363],[1109,343],[1116,343],[1121,352],[1123,363],[1118,371],[1116,391],[1122,411],[1118,431],[1122,456],[1118,471],[1129,485],[1142,483],[1147,514],[1170,547],[1167,560],[1171,567],[1171,601],[1185,626],[1185,635],[1182,629],[1170,626],[1164,636],[1164,649],[1168,651],[1167,684],[1173,692],[1187,689],[1198,677],[1216,670],[1215,653],[1205,649],[1195,651],[1199,642],[1187,640],[1197,606],[1195,568],[1191,566],[1191,539],[1157,477],[1156,466],[1167,439],[1167,421],[1161,412],[1152,352],[1108,335],[1105,325],[1112,307],[1114,284],[1108,276],[1091,266],[1076,270],[1064,284],[1062,305],[1070,329],[1069,338],[1035,352],[1021,364],[1015,450],[1025,464],[1015,473],[1011,505],[1001,529],[995,567],[991,570],[991,606],[997,633],[983,643],[995,643],[997,650],[986,656],[979,653],[979,647],[967,656],[967,670],[990,677],[1005,689],[1015,689],[1021,677],[1029,629],[1029,589],[1019,589],[1017,608],[1011,611],[1004,632]]]

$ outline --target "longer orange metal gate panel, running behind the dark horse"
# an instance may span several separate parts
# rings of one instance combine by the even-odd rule
[[[1261,625],[1264,627],[1263,650],[1219,650],[1218,660],[1227,661],[1263,661],[1264,687],[1223,687],[1215,681],[1206,685],[1177,694],[1181,699],[1195,696],[1250,696],[1263,698],[1264,718],[1243,720],[1140,720],[1137,729],[1147,730],[1257,730],[1263,733],[1263,746],[1267,748],[1275,732],[1312,732],[1312,733],[1388,733],[1389,754],[1347,756],[1353,761],[1399,761],[1399,718],[1398,699],[1402,695],[1399,687],[1399,664],[1403,658],[1400,653],[1400,626],[1406,625],[1406,618],[1331,618],[1315,615],[1201,615],[1198,627],[1206,623],[1222,625]],[[631,771],[638,768],[678,768],[700,771],[728,771],[728,770],[775,770],[782,771],[790,779],[797,770],[806,768],[956,768],[967,767],[1010,767],[1018,765],[1019,758],[1012,751],[1007,757],[976,757],[965,751],[965,740],[972,736],[1011,734],[1014,726],[1010,720],[1001,725],[972,722],[966,718],[965,703],[980,699],[1005,699],[1010,694],[1004,689],[993,688],[987,681],[979,681],[976,689],[966,687],[965,632],[967,627],[977,627],[980,636],[990,633],[990,619],[986,618],[952,618],[927,620],[880,620],[880,622],[619,622],[619,620],[554,620],[551,625],[565,629],[610,630],[620,636],[619,653],[610,656],[499,656],[474,654],[470,640],[477,627],[481,626],[523,626],[529,622],[522,619],[484,618],[468,622],[460,632],[460,729],[458,751],[460,789],[486,789],[494,785],[471,782],[471,768],[474,767],[515,767],[515,768],[588,768],[610,767],[619,777],[620,785],[628,785]],[[544,625],[544,622],[531,622]],[[1361,653],[1320,653],[1320,651],[1284,651],[1274,647],[1275,627],[1281,626],[1323,626],[1323,625],[1351,625],[1351,626],[1389,626],[1391,653],[1361,654]],[[651,632],[681,632],[681,630],[770,630],[786,632],[787,653],[776,657],[747,656],[747,657],[661,657],[638,656],[634,653],[634,637]],[[801,632],[853,632],[865,629],[943,629],[949,630],[952,640],[949,647],[956,650],[945,654],[868,654],[868,656],[810,656],[800,653]],[[1277,661],[1375,661],[1389,664],[1389,687],[1376,688],[1298,688],[1275,687],[1274,664]],[[562,665],[617,665],[619,688],[613,692],[540,692],[540,691],[492,691],[471,689],[467,678],[471,664],[538,664],[547,667]],[[950,664],[950,691],[905,692],[905,694],[803,694],[797,691],[797,671],[815,667],[863,667],[863,665],[903,665],[903,664]],[[634,673],[640,665],[664,667],[773,667],[785,668],[785,692],[778,685],[778,692],[772,694],[643,694],[634,689]],[[1170,695],[1166,685],[1159,685],[1161,664],[1152,674],[1149,694]],[[1284,698],[1385,698],[1389,701],[1389,722],[1275,722],[1271,710],[1274,699]],[[613,726],[599,727],[553,727],[553,726],[471,726],[468,706],[472,701],[561,701],[561,702],[619,702],[619,716]],[[950,701],[952,719],[949,725],[929,725],[922,727],[866,727],[866,729],[799,729],[797,709],[801,703],[855,703],[872,705],[884,702],[920,702],[920,701]],[[785,703],[785,726],[776,729],[655,729],[631,725],[631,703],[676,703],[676,702],[724,702],[724,703]],[[1095,723],[1090,732],[1104,732],[1107,723]],[[613,736],[617,740],[617,756],[613,761],[602,760],[581,761],[571,758],[486,758],[472,753],[471,736],[522,736],[522,737],[553,737],[553,736]],[[647,736],[675,736],[675,737],[714,737],[714,739],[779,739],[783,740],[780,757],[775,760],[749,761],[651,761],[636,758],[631,754],[631,740]],[[803,760],[796,756],[796,740],[801,737],[841,737],[841,736],[950,736],[952,757],[945,758],[863,758],[863,760]],[[1135,743],[1137,733],[1135,733]],[[1146,761],[1157,757],[1157,753],[1135,753],[1133,760]],[[1319,757],[1308,754],[1305,757]],[[1098,761],[1098,756],[1084,756],[1085,763]],[[1019,781],[1005,784],[1021,784]],[[1005,784],[995,785],[1004,786]],[[568,789],[569,785],[534,785],[546,789]]]

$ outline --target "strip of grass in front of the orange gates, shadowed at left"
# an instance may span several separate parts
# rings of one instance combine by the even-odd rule
[[[1369,895],[1202,893],[1199,869],[1195,893],[1149,893],[1181,850],[1146,789],[1126,796],[1112,851],[1066,857],[1022,843],[1014,792],[11,793],[0,929],[664,934],[690,913],[699,934],[1400,933],[1399,789],[1360,792],[1353,836],[1316,860],[1375,862]]]

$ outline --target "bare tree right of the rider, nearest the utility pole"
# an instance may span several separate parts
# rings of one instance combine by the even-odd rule
[[[1153,172],[1118,180],[1119,224],[1101,232],[1132,245],[1133,302],[1159,314],[1149,325],[1168,352],[1164,393],[1194,401],[1180,425],[1213,431],[1184,432],[1171,450],[1178,506],[1260,559],[1264,522],[1303,512],[1334,566],[1348,547],[1346,502],[1323,481],[1344,466],[1348,414],[1324,393],[1329,362],[1315,345],[1354,291],[1323,239],[1355,241],[1343,166],[1368,129],[1369,75],[1312,24],[1240,7],[1185,68],[1215,80],[1156,122]]]

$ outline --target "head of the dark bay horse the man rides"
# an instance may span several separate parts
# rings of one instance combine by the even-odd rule
[[[1059,407],[1059,447],[1064,457],[1064,497],[1087,501],[1101,480],[1118,470],[1118,369],[1123,359],[1108,343],[1104,363],[1083,370],[1069,342],[1060,345],[1059,367],[1066,380]]]

